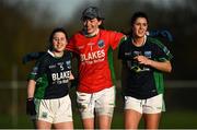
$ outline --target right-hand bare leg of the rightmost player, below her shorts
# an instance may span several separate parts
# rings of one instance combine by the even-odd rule
[[[143,114],[146,129],[158,129],[161,118],[161,113],[159,114]]]

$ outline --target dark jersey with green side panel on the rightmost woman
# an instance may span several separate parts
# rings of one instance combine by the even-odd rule
[[[120,47],[118,58],[123,61],[121,85],[124,95],[139,99],[149,98],[164,92],[163,72],[139,64],[135,56],[142,55],[154,61],[171,60],[170,50],[158,39],[147,37],[143,46],[136,47],[128,37]]]

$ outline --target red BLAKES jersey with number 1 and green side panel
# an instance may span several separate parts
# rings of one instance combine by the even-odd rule
[[[100,29],[94,37],[73,35],[67,49],[79,55],[79,92],[94,93],[114,85],[113,49],[124,34]]]

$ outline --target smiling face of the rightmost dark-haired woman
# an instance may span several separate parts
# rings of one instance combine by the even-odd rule
[[[137,17],[132,24],[132,35],[135,37],[143,37],[148,29],[148,21],[146,17]]]

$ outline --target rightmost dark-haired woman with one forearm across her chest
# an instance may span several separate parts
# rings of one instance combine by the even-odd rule
[[[146,129],[158,129],[163,102],[163,72],[171,72],[172,55],[158,39],[147,37],[149,20],[146,13],[131,17],[131,34],[121,43],[121,87],[125,98],[125,128],[137,129],[141,117]]]

